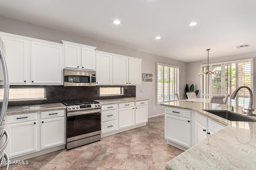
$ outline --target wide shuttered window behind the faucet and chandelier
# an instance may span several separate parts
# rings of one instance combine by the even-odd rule
[[[253,91],[253,59],[227,61],[209,64],[209,70],[218,70],[218,75],[202,75],[200,78],[200,92],[202,98],[211,95],[232,94],[240,86],[248,86]],[[206,72],[207,64],[200,66]],[[239,90],[236,100],[228,100],[228,104],[236,105],[239,112],[248,108],[249,91],[246,88]]]

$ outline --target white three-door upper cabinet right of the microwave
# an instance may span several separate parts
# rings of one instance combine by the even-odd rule
[[[141,61],[134,57],[96,51],[97,85],[141,85]]]

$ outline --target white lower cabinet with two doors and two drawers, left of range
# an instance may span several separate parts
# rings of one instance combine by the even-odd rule
[[[10,158],[64,145],[65,110],[6,115]]]

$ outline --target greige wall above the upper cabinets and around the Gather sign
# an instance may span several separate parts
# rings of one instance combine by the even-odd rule
[[[13,20],[3,16],[0,16],[0,23],[0,31],[2,32],[44,39],[57,43],[59,43],[61,40],[66,40],[74,43],[94,46],[97,47],[96,50],[99,51],[106,51],[143,59],[142,73],[153,74],[153,82],[142,82],[141,86],[136,86],[136,96],[150,99],[148,107],[149,116],[164,113],[163,106],[156,106],[156,62],[180,66],[180,94],[181,96],[184,96],[184,87],[186,84],[186,63],[184,62],[144,53],[136,49],[122,47],[120,45],[99,41],[88,37],[78,36],[56,29],[50,29],[47,27],[41,27],[39,25]],[[144,92],[140,92],[140,89],[144,89]],[[155,107],[156,109],[154,109]]]

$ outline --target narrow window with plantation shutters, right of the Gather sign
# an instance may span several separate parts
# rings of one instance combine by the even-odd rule
[[[157,104],[177,100],[179,93],[179,67],[156,63],[156,93]]]

